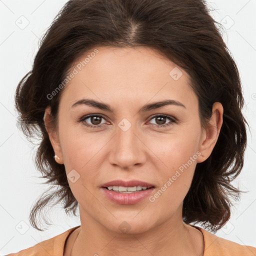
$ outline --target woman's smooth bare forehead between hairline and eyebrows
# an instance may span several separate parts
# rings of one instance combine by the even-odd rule
[[[69,69],[72,72],[75,75],[63,93],[71,102],[83,95],[109,103],[168,97],[196,100],[189,75],[149,47],[96,47],[76,59]]]

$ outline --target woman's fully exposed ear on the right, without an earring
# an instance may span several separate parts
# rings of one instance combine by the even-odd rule
[[[203,162],[211,154],[219,135],[220,128],[222,126],[223,106],[220,102],[214,102],[212,105],[211,118],[203,129],[198,151],[201,154],[197,157],[197,162]]]

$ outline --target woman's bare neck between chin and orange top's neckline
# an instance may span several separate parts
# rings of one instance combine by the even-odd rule
[[[143,232],[120,233],[105,228],[80,208],[81,226],[72,256],[203,255],[201,232],[178,216]]]

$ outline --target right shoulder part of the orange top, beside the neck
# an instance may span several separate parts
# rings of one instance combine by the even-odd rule
[[[194,226],[194,225],[192,225]],[[209,231],[194,226],[203,234],[204,253],[203,256],[256,256],[256,247],[250,245],[242,245],[231,240],[210,233]]]

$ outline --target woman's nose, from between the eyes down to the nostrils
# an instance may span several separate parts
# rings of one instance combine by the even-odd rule
[[[120,126],[121,127],[121,126]],[[133,165],[142,164],[146,160],[146,148],[135,125],[127,130],[116,127],[116,134],[109,144],[109,163],[122,169],[129,169]]]

